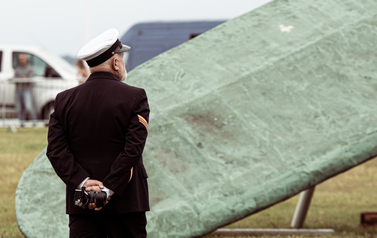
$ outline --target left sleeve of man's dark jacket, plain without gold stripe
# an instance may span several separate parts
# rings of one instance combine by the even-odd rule
[[[71,190],[74,190],[85,178],[89,177],[89,173],[75,161],[73,154],[69,151],[67,134],[58,116],[58,96],[55,100],[55,110],[50,116],[46,155],[56,174]]]

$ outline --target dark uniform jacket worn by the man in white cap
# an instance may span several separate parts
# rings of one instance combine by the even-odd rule
[[[67,185],[67,213],[95,212],[73,202],[75,188],[87,177],[115,192],[99,213],[148,211],[142,158],[149,120],[145,91],[111,73],[93,73],[84,84],[59,93],[54,107],[46,154]]]

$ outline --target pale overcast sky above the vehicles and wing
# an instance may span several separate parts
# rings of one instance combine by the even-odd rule
[[[37,45],[76,57],[109,28],[145,21],[228,20],[271,0],[0,0],[0,44]]]

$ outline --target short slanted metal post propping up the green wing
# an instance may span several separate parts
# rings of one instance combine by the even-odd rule
[[[300,199],[298,200],[295,213],[292,218],[292,228],[302,228],[304,226],[306,214],[308,213],[310,202],[314,194],[314,187],[301,192]]]

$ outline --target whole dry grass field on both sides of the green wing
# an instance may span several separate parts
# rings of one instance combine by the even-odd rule
[[[47,145],[47,128],[0,128],[0,238],[23,237],[18,230],[14,196],[23,171]],[[377,160],[370,160],[318,185],[304,228],[335,230],[321,237],[377,237],[377,228],[360,226],[360,213],[377,211]],[[226,228],[290,228],[298,196],[244,218]],[[205,238],[255,236],[216,236]],[[315,237],[309,235],[259,237]],[[204,238],[204,237],[203,237]]]

